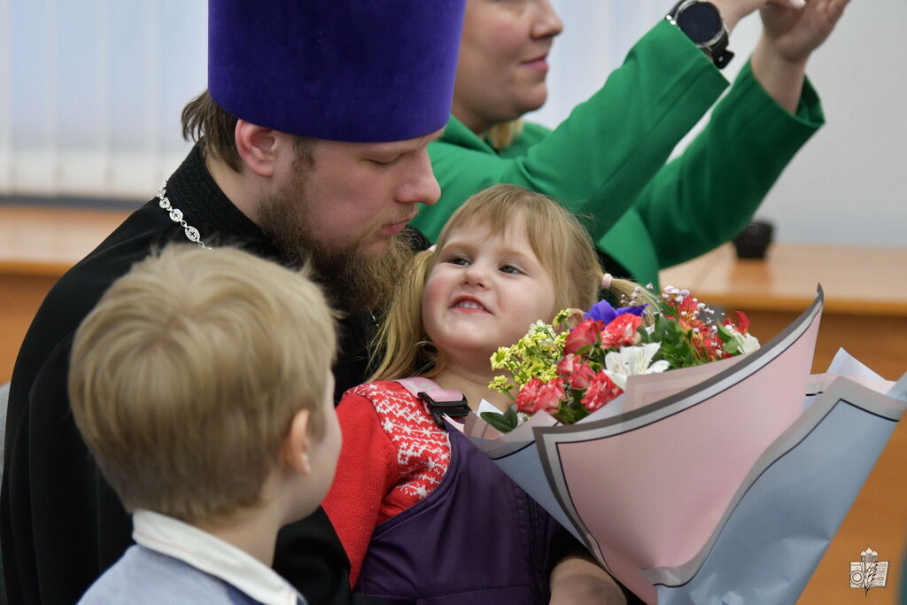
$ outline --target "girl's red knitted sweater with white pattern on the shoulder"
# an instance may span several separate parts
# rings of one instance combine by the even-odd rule
[[[355,586],[375,526],[432,493],[451,449],[423,403],[395,382],[346,391],[337,416],[343,447],[322,506],[346,549]]]

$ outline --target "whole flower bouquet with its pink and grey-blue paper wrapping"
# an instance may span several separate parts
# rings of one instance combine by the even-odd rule
[[[844,351],[810,376],[822,306],[764,346],[675,288],[561,313],[460,430],[642,600],[795,602],[907,409]]]

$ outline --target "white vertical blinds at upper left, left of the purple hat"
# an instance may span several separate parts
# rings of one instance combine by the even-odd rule
[[[0,0],[0,196],[148,200],[189,145],[205,0]]]

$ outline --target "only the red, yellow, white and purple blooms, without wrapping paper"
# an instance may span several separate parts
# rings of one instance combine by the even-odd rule
[[[699,366],[759,348],[746,314],[736,311],[736,319],[717,321],[714,310],[688,290],[671,286],[641,305],[614,308],[601,300],[570,331],[556,329],[578,314],[566,309],[551,324],[536,322],[519,342],[492,356],[493,369],[505,374],[489,388],[508,395],[514,405],[502,415],[484,412],[487,423],[508,433],[543,411],[573,424],[621,395],[629,376]]]

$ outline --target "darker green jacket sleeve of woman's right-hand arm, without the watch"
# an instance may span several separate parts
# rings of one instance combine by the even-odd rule
[[[808,81],[791,114],[765,92],[747,63],[705,130],[658,171],[634,206],[659,266],[693,259],[733,239],[823,123]]]

